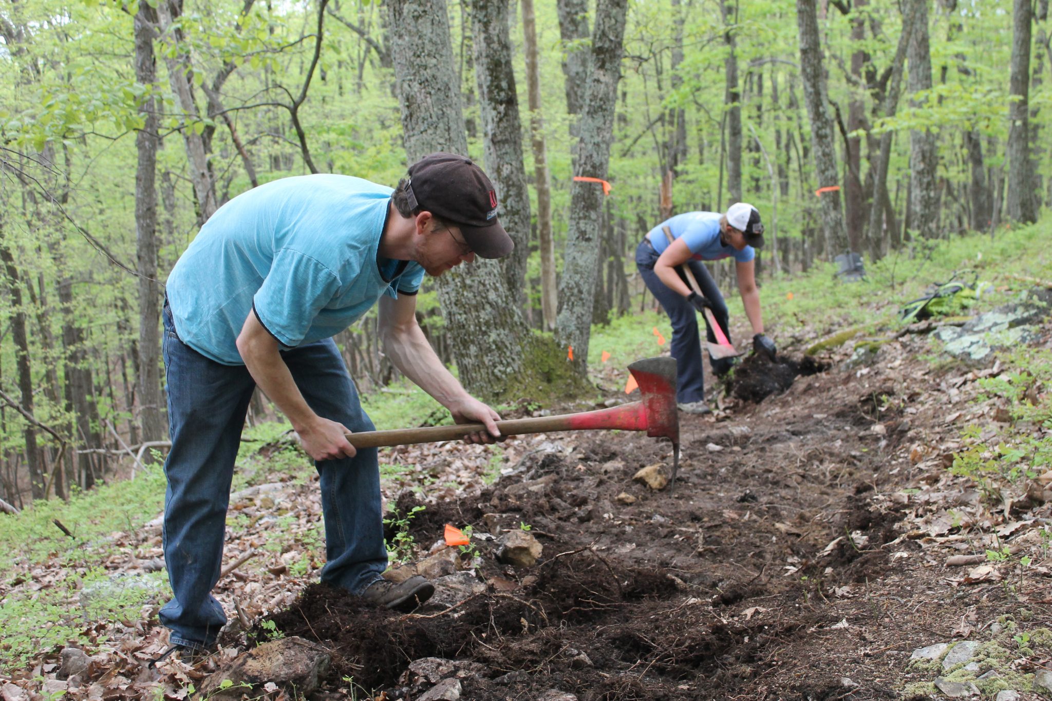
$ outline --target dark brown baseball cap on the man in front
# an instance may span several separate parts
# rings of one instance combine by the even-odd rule
[[[476,255],[497,259],[515,247],[497,220],[497,190],[466,156],[429,153],[409,166],[409,206],[460,227]]]

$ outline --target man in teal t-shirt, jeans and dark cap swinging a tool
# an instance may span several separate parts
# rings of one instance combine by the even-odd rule
[[[171,451],[164,556],[175,594],[160,612],[173,648],[207,652],[226,623],[211,595],[241,429],[256,387],[284,412],[315,459],[327,562],[322,580],[408,610],[433,585],[392,583],[383,538],[376,449],[346,434],[372,430],[332,335],[379,302],[384,351],[457,422],[500,417],[470,396],[416,318],[424,273],[438,276],[513,244],[497,219],[489,179],[469,159],[432,153],[396,189],[358,178],[302,176],[226,203],[179,259],[166,285],[164,365]],[[168,653],[166,653],[168,654]]]

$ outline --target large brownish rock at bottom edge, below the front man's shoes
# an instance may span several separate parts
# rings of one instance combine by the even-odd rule
[[[265,642],[242,653],[207,677],[200,687],[201,698],[214,700],[240,699],[244,684],[254,688],[274,682],[297,696],[306,696],[318,688],[318,679],[328,671],[329,656],[317,643],[292,636]],[[225,688],[223,682],[229,680]]]

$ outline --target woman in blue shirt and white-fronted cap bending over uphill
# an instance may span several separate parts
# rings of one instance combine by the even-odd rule
[[[665,233],[668,230],[669,235]],[[676,214],[662,222],[643,239],[635,250],[635,265],[649,289],[672,322],[672,357],[676,359],[676,401],[682,411],[707,414],[702,370],[702,348],[697,343],[697,316],[705,307],[712,313],[727,337],[727,305],[702,261],[733,257],[736,262],[737,288],[745,305],[745,314],[752,325],[753,349],[774,357],[774,343],[764,335],[760,313],[760,291],[756,289],[755,250],[764,245],[764,225],[752,205],[739,202],[726,214],[694,211]],[[702,294],[690,289],[676,268],[686,265],[697,281]],[[682,268],[681,268],[682,269]],[[712,329],[706,337],[715,343]],[[731,358],[710,358],[712,372],[723,375],[730,370]]]

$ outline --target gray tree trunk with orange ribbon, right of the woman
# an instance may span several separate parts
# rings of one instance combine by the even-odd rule
[[[839,178],[836,172],[835,135],[826,111],[826,76],[822,65],[815,0],[796,0],[796,21],[800,28],[800,69],[804,81],[804,101],[811,119],[811,146],[818,188],[832,187],[839,183]],[[818,202],[826,253],[832,259],[849,248],[841,213],[839,191],[823,192]]]

